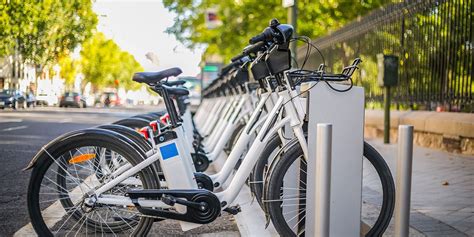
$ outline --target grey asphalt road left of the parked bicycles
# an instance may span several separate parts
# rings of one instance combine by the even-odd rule
[[[30,222],[26,207],[30,171],[22,169],[43,145],[69,131],[146,111],[139,108],[0,110],[0,236],[12,236]]]

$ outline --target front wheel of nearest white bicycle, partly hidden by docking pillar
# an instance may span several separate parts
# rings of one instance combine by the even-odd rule
[[[377,221],[366,236],[381,236],[390,223],[395,206],[395,185],[382,156],[364,142],[364,158],[376,170],[382,186],[382,204]],[[295,176],[295,171],[298,177]],[[268,174],[263,203],[281,236],[300,236],[305,231],[306,160],[296,143],[285,152]],[[291,177],[290,177],[291,176]],[[286,179],[292,179],[286,182]]]

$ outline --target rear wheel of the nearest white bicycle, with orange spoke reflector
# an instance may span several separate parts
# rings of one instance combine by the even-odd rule
[[[101,170],[98,167],[101,162],[97,160],[105,159],[101,154],[107,153],[114,153],[118,164],[109,166],[111,172],[143,160],[139,152],[119,139],[80,139],[80,136],[73,141],[64,140],[59,149],[43,153],[28,187],[28,211],[39,236],[148,233],[153,219],[141,215],[134,206],[85,204],[88,193],[111,178],[97,175]],[[104,194],[124,196],[130,188],[159,188],[152,172],[150,168],[143,169],[130,177],[134,182],[118,184]]]

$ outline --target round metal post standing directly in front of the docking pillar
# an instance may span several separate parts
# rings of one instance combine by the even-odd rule
[[[329,211],[331,204],[331,154],[332,154],[332,124],[318,123],[316,143],[316,182],[312,187],[315,192],[313,236],[329,236]]]

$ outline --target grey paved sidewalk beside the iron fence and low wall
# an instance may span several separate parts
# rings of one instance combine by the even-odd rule
[[[385,158],[395,179],[397,144],[386,145],[379,139],[367,141]],[[418,146],[414,147],[413,155],[410,236],[474,237],[474,156]],[[222,160],[225,159],[218,159],[213,165],[219,166],[217,163]],[[380,199],[381,195],[374,193],[376,188],[370,178],[366,180],[368,176],[364,172],[363,196],[369,201],[362,208],[364,222],[378,216],[379,210],[371,202],[381,203],[381,200],[371,200]],[[242,210],[246,211],[245,215],[239,213],[235,216],[241,236],[254,236],[253,233],[257,232],[258,236],[276,236],[271,224],[267,229],[262,225],[265,219],[260,217],[263,212],[258,205],[248,205],[251,195],[244,191],[239,196],[241,198],[237,201],[244,204]],[[394,223],[392,218],[384,236],[395,236]],[[363,233],[365,228],[363,225]]]

